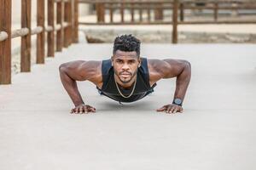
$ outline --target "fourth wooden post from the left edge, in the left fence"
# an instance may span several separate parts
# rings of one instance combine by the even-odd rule
[[[48,26],[53,27],[53,31],[47,33],[47,56],[55,56],[55,18],[54,18],[54,0],[48,0]]]

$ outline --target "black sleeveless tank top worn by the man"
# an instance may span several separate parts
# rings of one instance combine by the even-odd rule
[[[147,96],[154,92],[154,87],[156,83],[152,87],[149,84],[149,74],[148,74],[148,61],[146,58],[142,58],[142,65],[138,68],[137,71],[137,83],[134,89],[134,93],[130,98],[124,98],[119,94],[118,89],[116,88],[115,80],[113,77],[113,66],[111,65],[111,59],[102,60],[102,79],[103,85],[102,89],[99,89],[100,94],[108,96],[111,99],[114,99],[119,102],[133,102],[138,99],[143,99],[143,97]],[[134,85],[134,84],[133,84]],[[119,86],[119,90],[125,96],[131,94],[131,89],[125,89]]]

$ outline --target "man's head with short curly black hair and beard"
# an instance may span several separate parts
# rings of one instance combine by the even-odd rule
[[[134,81],[141,65],[140,40],[131,35],[116,37],[113,43],[112,65],[115,75],[122,83]]]

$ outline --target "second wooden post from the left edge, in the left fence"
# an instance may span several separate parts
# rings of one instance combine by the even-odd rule
[[[31,31],[31,0],[21,1],[21,27]],[[31,33],[21,37],[20,71],[31,71]]]

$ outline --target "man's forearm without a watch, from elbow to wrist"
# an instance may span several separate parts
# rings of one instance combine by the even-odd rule
[[[72,99],[75,106],[84,104],[84,101],[79,93],[77,82],[67,75],[65,71],[60,71],[61,82],[66,89],[67,94]]]

